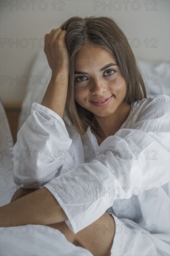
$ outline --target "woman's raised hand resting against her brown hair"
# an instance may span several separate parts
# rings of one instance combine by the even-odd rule
[[[52,29],[50,34],[45,35],[44,52],[53,74],[62,68],[67,68],[69,71],[70,57],[65,35],[66,31],[61,28]]]

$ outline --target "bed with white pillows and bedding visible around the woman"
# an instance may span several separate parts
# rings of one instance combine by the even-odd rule
[[[170,96],[170,64],[152,63],[137,60],[142,71],[148,96],[167,94]],[[33,102],[41,103],[51,78],[46,55],[39,51],[32,63],[30,80],[26,96],[22,103],[18,130],[28,117]],[[19,188],[13,182],[13,139],[7,115],[0,101],[0,206],[10,202],[14,192]],[[0,255],[69,255],[89,256],[90,251],[69,243],[57,229],[44,225],[25,225],[1,228]]]

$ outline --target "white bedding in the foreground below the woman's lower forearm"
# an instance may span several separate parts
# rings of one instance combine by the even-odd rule
[[[59,230],[44,225],[0,228],[0,232],[1,256],[92,256],[68,242]]]

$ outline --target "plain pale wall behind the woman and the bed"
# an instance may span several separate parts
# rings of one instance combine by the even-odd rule
[[[161,62],[170,58],[169,0],[1,0],[0,4],[3,103],[23,101],[28,81],[23,76],[30,79],[33,58],[37,51],[43,51],[45,34],[75,15],[113,18],[138,59]],[[17,44],[12,44],[14,41]],[[16,78],[18,84],[13,81]]]

